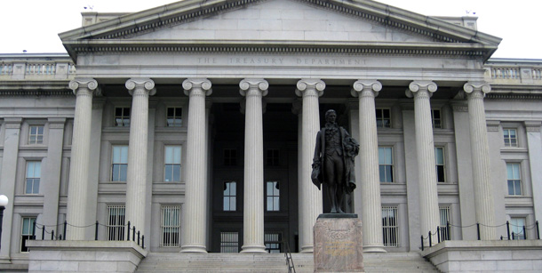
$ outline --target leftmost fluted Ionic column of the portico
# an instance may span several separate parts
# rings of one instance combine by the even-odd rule
[[[98,82],[92,78],[79,78],[69,82],[76,94],[76,113],[71,146],[68,182],[68,240],[84,240],[83,227],[92,224],[87,219],[86,206],[89,187],[89,154],[91,151],[92,95],[100,92]],[[84,204],[84,205],[82,205]]]

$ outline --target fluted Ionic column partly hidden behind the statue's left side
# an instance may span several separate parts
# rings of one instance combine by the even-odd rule
[[[301,135],[301,179],[299,180],[299,249],[301,253],[313,253],[313,226],[323,211],[322,192],[311,181],[316,133],[320,131],[318,97],[322,96],[325,83],[319,79],[302,79],[296,94],[303,99]]]

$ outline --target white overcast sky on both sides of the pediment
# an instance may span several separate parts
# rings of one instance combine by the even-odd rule
[[[59,33],[81,26],[81,12],[139,12],[174,0],[0,0],[0,53],[66,52]],[[476,12],[478,30],[503,38],[493,58],[542,59],[540,0],[379,0],[425,15]]]

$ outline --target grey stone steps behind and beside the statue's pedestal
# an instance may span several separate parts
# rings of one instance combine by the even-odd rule
[[[296,272],[314,272],[312,254],[292,253]],[[364,253],[367,273],[440,272],[419,253]],[[148,253],[136,270],[139,273],[171,272],[288,272],[283,253]]]

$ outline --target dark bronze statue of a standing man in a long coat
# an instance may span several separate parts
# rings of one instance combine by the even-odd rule
[[[335,120],[335,110],[325,113],[325,126],[316,134],[315,157],[311,179],[318,189],[328,186],[331,213],[344,213],[344,197],[355,189],[354,158],[360,145]]]

